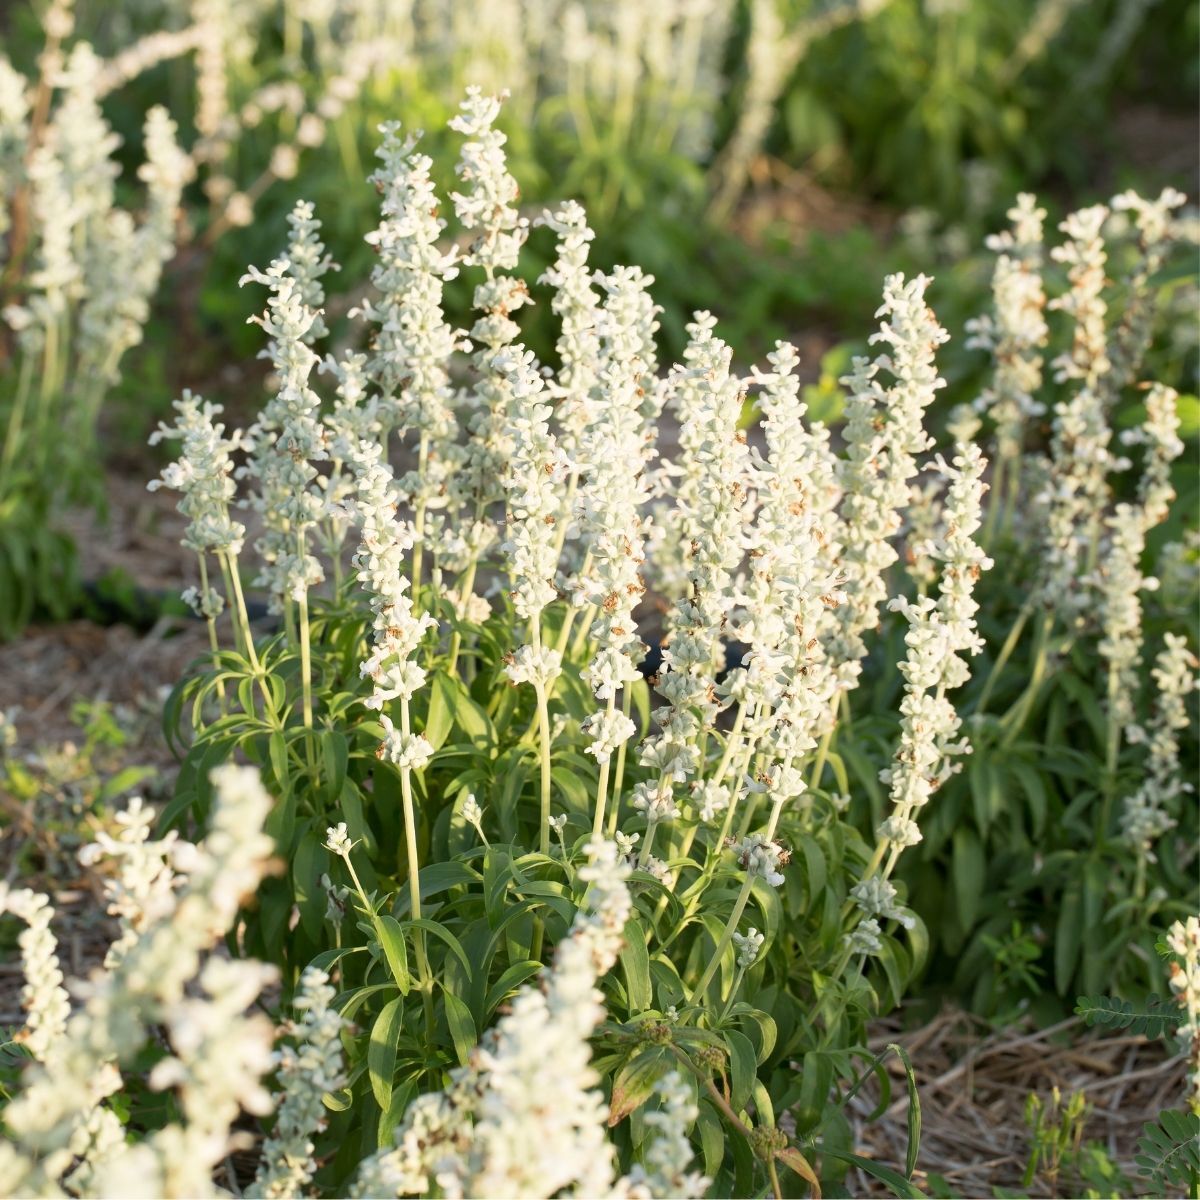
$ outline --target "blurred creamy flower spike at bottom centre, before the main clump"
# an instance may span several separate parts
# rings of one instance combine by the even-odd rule
[[[631,912],[629,868],[612,842],[587,851],[586,907],[542,986],[517,994],[445,1092],[409,1106],[396,1148],[364,1162],[355,1195],[425,1193],[433,1181],[449,1196],[612,1193],[607,1106],[588,1037],[604,1016],[596,979],[616,962]]]

